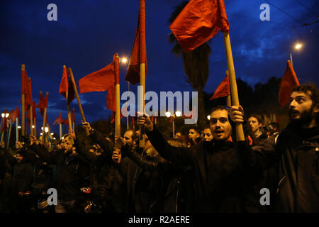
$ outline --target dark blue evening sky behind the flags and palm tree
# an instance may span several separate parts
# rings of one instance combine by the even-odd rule
[[[299,0],[301,1],[301,0]],[[172,55],[168,19],[181,0],[146,0],[147,79],[146,91],[192,91],[185,82],[181,57]],[[47,21],[47,5],[57,5],[57,21]],[[270,3],[270,21],[260,21],[259,6]],[[282,77],[286,60],[296,42],[302,50],[293,51],[293,66],[301,83],[318,84],[319,1],[225,0],[230,23],[236,77],[248,84]],[[277,9],[275,6],[279,9]],[[49,92],[50,124],[59,112],[67,117],[65,99],[58,93],[62,66],[72,67],[76,80],[101,69],[113,54],[130,57],[138,18],[138,0],[0,1],[0,107],[21,109],[21,64],[33,79],[33,99],[39,91]],[[288,15],[287,15],[288,14]],[[316,16],[317,15],[317,16]],[[213,92],[225,75],[227,62],[223,35],[211,40],[209,79],[206,92]],[[121,67],[121,92],[127,90],[125,67]],[[136,86],[130,88],[135,91]],[[89,122],[108,118],[106,92],[81,94]],[[77,123],[80,114],[77,102]],[[41,124],[38,114],[38,125]],[[57,126],[52,126],[57,131]]]

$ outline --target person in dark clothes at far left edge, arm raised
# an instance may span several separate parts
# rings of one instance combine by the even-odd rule
[[[9,164],[13,167],[10,199],[11,211],[14,213],[30,212],[32,203],[32,182],[33,182],[33,165],[28,162],[26,155],[26,146],[22,147],[21,143],[16,144],[18,151],[16,157],[12,157],[9,151],[1,144]]]

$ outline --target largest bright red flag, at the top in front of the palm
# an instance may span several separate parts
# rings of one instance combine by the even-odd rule
[[[223,0],[191,0],[169,26],[184,52],[194,50],[218,31],[229,33]]]

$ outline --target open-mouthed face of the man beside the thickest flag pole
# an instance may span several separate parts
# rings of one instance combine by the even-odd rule
[[[210,128],[215,140],[228,140],[232,133],[232,126],[228,121],[228,111],[220,109],[213,111]]]

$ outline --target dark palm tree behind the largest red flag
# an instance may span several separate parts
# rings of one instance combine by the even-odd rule
[[[177,18],[181,10],[184,9],[188,3],[189,1],[183,1],[175,8],[171,18],[169,18],[169,23],[172,23],[175,18]],[[208,79],[208,57],[211,55],[211,47],[207,43],[203,43],[203,45],[200,45],[198,48],[186,53],[181,49],[181,45],[179,45],[173,33],[169,35],[169,43],[174,44],[172,53],[177,55],[177,57],[181,55],[184,64],[184,72],[187,76],[186,82],[191,84],[191,87],[198,92],[198,125],[203,126],[206,121],[203,87],[205,87]]]

